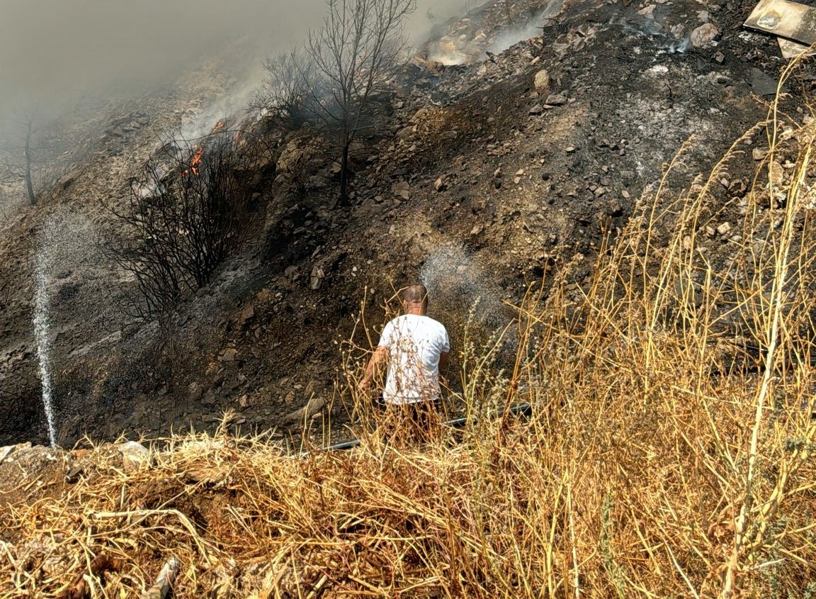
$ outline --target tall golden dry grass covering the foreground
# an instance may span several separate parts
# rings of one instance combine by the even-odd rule
[[[742,140],[694,193],[646,198],[583,289],[568,267],[546,299],[531,289],[511,369],[496,338],[464,335],[468,409],[529,401],[529,422],[305,458],[176,438],[3,508],[0,597],[54,596],[103,552],[121,567],[92,597],[133,597],[174,555],[176,597],[813,595],[814,126],[774,103],[761,131],[727,255],[700,232]]]

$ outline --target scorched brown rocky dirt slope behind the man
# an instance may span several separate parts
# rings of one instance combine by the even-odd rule
[[[99,240],[161,132],[204,118],[206,97],[234,82],[203,65],[172,93],[110,107],[118,129],[100,127],[88,158],[2,225],[0,446],[47,441],[31,326],[38,260],[64,446],[214,428],[224,410],[243,431],[281,437],[342,422],[344,372],[376,343],[394,290],[416,280],[450,331],[455,373],[468,321],[484,335],[503,326],[531,283],[567,263],[579,293],[605,235],[684,144],[665,179],[673,193],[765,118],[787,61],[774,38],[743,29],[753,4],[567,0],[554,11],[529,0],[451,21],[355,146],[352,206],[335,206],[333,160],[313,131],[269,133],[276,175],[259,186],[242,250],[165,326],[118,310],[129,283]],[[789,79],[792,122],[809,118],[813,81],[809,63]],[[712,190],[722,205],[703,244],[716,268],[727,268],[764,135],[741,142]]]

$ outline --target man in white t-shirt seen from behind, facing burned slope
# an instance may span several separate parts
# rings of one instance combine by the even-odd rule
[[[440,322],[426,316],[424,285],[406,287],[401,300],[404,314],[385,325],[359,388],[367,393],[378,366],[388,361],[383,400],[391,411],[410,417],[424,436],[436,415],[439,370],[447,365],[450,339]]]

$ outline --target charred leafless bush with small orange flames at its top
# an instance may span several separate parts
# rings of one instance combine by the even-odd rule
[[[161,316],[210,282],[248,219],[252,160],[233,151],[233,133],[220,131],[196,144],[165,144],[144,177],[131,180],[130,202],[114,211],[124,234],[108,248],[135,281],[126,312]]]

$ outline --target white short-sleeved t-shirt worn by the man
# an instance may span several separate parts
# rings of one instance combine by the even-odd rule
[[[448,332],[441,322],[419,314],[404,314],[388,322],[379,337],[388,348],[387,403],[423,402],[439,397],[439,357],[450,352]]]

